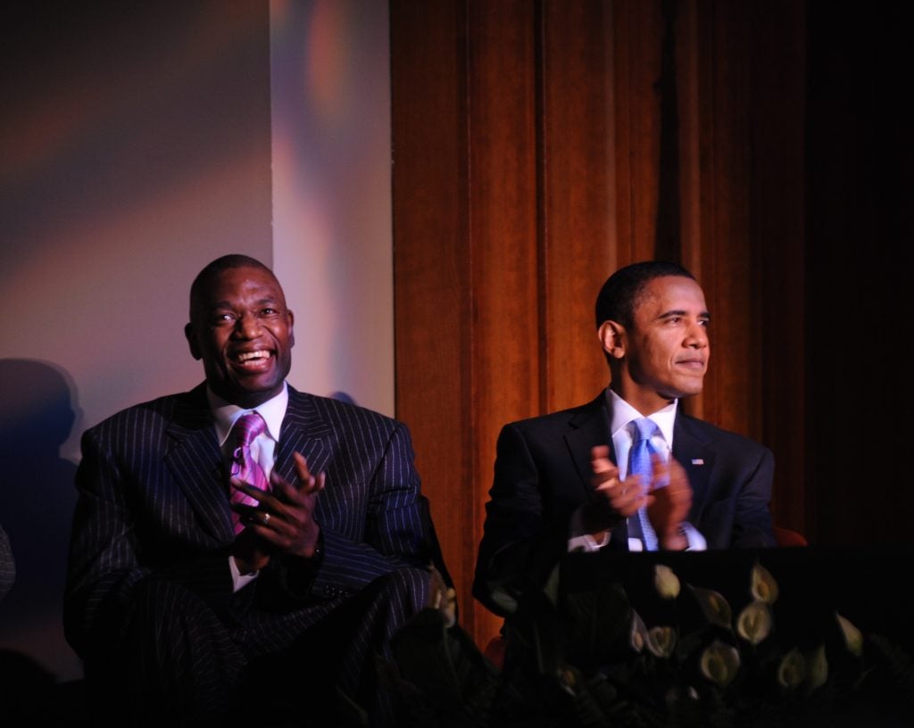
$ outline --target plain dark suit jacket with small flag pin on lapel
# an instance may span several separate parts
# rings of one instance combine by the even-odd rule
[[[608,444],[615,460],[610,421],[600,393],[502,428],[473,581],[473,596],[496,614],[511,614],[526,589],[541,588],[567,552],[571,514],[594,497],[590,448]],[[708,549],[775,545],[771,450],[678,410],[673,457],[694,491],[688,521]],[[622,522],[611,543],[628,543],[627,535]]]

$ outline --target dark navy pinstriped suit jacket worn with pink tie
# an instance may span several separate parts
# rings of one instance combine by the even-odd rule
[[[116,625],[131,586],[151,574],[193,586],[220,616],[240,625],[240,639],[269,652],[377,576],[427,565],[407,427],[290,386],[274,468],[293,483],[295,451],[312,472],[326,473],[315,511],[324,557],[313,573],[304,560],[274,558],[252,588],[232,594],[228,483],[206,385],[130,407],[88,429],[64,600],[73,648],[85,658]],[[303,573],[308,578],[290,578]],[[296,591],[292,583],[306,588]]]

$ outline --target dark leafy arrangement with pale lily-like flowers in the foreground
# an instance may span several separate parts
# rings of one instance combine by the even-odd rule
[[[422,726],[914,725],[914,660],[832,609],[785,600],[756,561],[734,593],[653,566],[518,613],[490,663],[446,611],[398,637],[389,684]],[[561,608],[557,607],[561,604]]]

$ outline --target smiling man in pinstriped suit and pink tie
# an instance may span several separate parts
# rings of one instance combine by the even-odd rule
[[[409,431],[287,385],[292,323],[270,269],[214,260],[206,381],[83,435],[64,618],[98,721],[395,724],[376,655],[436,588]],[[267,490],[229,477],[250,412]]]

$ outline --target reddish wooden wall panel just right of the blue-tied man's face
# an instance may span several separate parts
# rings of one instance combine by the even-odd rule
[[[750,351],[760,299],[749,247],[749,28],[737,5],[708,3],[696,18],[698,124],[689,143],[698,149],[701,241],[693,272],[712,316],[702,417],[758,438],[758,354]]]

